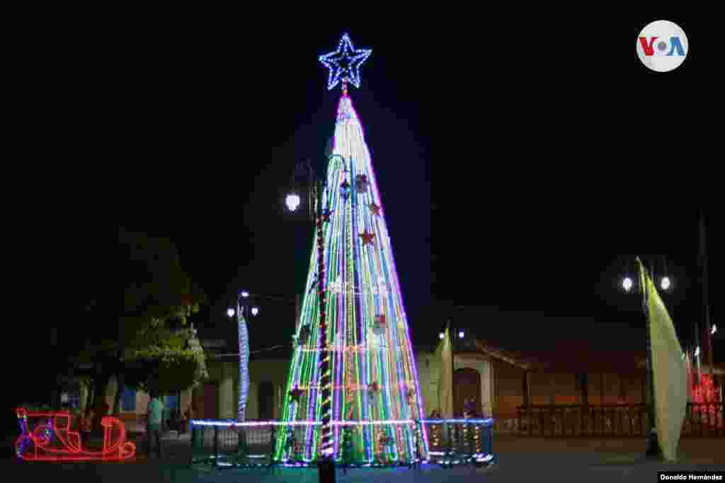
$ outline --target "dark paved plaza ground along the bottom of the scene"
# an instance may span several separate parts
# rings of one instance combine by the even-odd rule
[[[164,460],[124,463],[26,463],[7,458],[3,481],[36,482],[317,482],[315,469],[188,469],[188,440],[167,440]],[[644,461],[642,439],[498,437],[489,469],[355,469],[339,482],[655,482],[657,471],[725,470],[724,438],[685,438],[678,463]],[[7,477],[7,479],[6,479]],[[50,479],[49,479],[50,478]]]

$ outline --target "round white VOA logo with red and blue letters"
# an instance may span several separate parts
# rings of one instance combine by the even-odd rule
[[[668,72],[679,67],[687,57],[688,47],[684,30],[668,20],[650,23],[637,38],[639,60],[656,72]]]

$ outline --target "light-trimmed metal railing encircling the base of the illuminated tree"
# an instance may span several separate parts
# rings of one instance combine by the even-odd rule
[[[421,421],[428,438],[428,458],[405,463],[359,461],[339,466],[412,466],[418,463],[456,464],[494,463],[492,419],[426,419]],[[292,425],[295,440],[305,440],[307,427],[318,423]],[[349,424],[349,423],[346,423]],[[405,421],[397,421],[405,424]],[[414,424],[410,421],[408,424]],[[191,421],[190,464],[218,467],[312,466],[315,461],[275,461],[276,438],[281,421]]]

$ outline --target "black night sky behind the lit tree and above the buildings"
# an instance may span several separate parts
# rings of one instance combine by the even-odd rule
[[[636,254],[658,264],[666,254],[674,319],[695,322],[700,208],[711,283],[721,275],[721,215],[704,194],[717,123],[699,114],[715,81],[695,81],[697,54],[666,75],[639,64],[648,19],[609,30],[621,40],[596,60],[563,30],[548,35],[568,54],[544,55],[523,38],[482,43],[473,26],[210,28],[99,43],[68,33],[44,43],[14,122],[23,162],[46,163],[35,194],[17,201],[25,211],[11,215],[30,253],[25,296],[40,306],[57,287],[51,319],[72,325],[88,288],[112,285],[123,261],[106,254],[124,226],[173,240],[210,297],[200,326],[223,324],[236,287],[294,297],[311,232],[285,217],[282,195],[295,163],[323,167],[340,94],[327,91],[317,57],[349,27],[356,47],[373,49],[351,96],[416,343],[435,342],[438,301],[642,324],[639,301],[616,287]],[[289,342],[291,322],[279,342],[276,320],[261,322],[254,347]]]

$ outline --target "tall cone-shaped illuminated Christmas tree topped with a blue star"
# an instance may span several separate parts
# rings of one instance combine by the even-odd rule
[[[336,52],[320,56],[328,88],[341,82],[342,96],[283,403],[283,421],[298,424],[302,444],[296,453],[286,442],[293,432],[281,430],[277,460],[409,463],[428,455],[383,203],[347,93],[347,83],[360,87],[369,55],[346,34]]]

